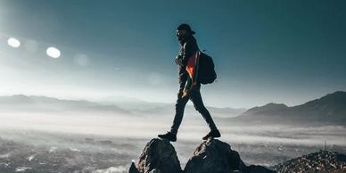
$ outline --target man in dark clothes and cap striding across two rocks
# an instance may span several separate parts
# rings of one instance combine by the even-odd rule
[[[198,82],[197,78],[194,78],[195,75],[198,75],[199,58],[199,48],[194,34],[195,32],[185,23],[177,27],[177,40],[181,45],[181,50],[180,54],[176,57],[176,63],[179,67],[180,84],[177,94],[176,115],[170,131],[166,134],[159,135],[160,138],[168,139],[172,142],[177,141],[177,130],[183,119],[185,105],[188,100],[194,103],[194,108],[202,114],[203,119],[205,119],[210,128],[210,132],[206,136],[203,136],[202,139],[207,140],[210,137],[221,136],[213,119],[211,119],[210,112],[205,108],[202,102],[200,92],[201,83]]]

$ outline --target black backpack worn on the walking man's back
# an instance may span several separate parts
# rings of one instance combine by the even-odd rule
[[[198,69],[198,81],[201,84],[211,84],[216,78],[215,65],[212,58],[208,54],[200,52],[199,69]]]

